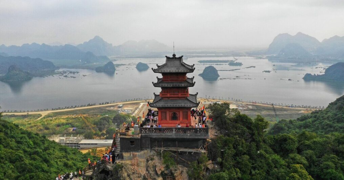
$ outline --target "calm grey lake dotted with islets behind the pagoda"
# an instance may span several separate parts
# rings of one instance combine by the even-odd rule
[[[198,63],[200,60],[233,60],[233,57],[221,58],[189,58],[188,64],[195,64],[196,70],[188,74],[195,76],[194,87],[190,93],[198,92],[198,97],[223,99],[242,99],[268,103],[293,105],[327,106],[330,102],[343,95],[343,83],[328,83],[302,79],[305,73],[322,74],[321,67],[329,67],[324,63],[288,63],[268,59],[240,57],[237,62],[242,66],[229,66],[227,63]],[[34,77],[22,83],[8,84],[0,82],[0,111],[3,110],[37,110],[57,107],[85,105],[121,101],[133,98],[151,98],[156,76],[151,69],[138,71],[138,62],[147,63],[150,68],[155,64],[163,64],[165,58],[126,58],[114,61],[125,64],[116,68],[113,75],[97,73],[84,69],[60,69],[58,71],[77,71],[68,77],[48,76]],[[217,81],[206,81],[198,74],[208,65],[213,65],[220,77]],[[255,66],[255,68],[246,68]],[[320,68],[319,68],[320,67]],[[271,71],[270,73],[262,71]],[[70,77],[70,76],[74,76]],[[288,80],[290,79],[290,80]]]

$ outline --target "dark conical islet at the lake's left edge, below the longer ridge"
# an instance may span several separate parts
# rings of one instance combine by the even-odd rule
[[[32,75],[21,70],[17,65],[10,65],[8,72],[1,78],[3,82],[28,81]]]

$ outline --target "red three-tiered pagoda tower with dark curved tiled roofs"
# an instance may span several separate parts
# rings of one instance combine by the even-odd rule
[[[166,56],[166,62],[157,64],[157,69],[152,68],[154,73],[160,73],[162,78],[157,77],[154,87],[161,87],[160,94],[154,93],[154,100],[148,103],[150,107],[158,109],[158,123],[162,127],[175,127],[186,123],[191,124],[191,108],[198,107],[197,94],[189,94],[189,87],[193,87],[194,77],[187,77],[187,73],[194,72],[194,65],[183,62],[183,56]]]

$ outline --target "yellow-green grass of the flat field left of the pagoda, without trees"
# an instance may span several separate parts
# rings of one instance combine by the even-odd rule
[[[109,110],[108,107],[98,107],[89,109],[80,109],[64,112],[50,113],[42,119],[38,119],[41,115],[4,115],[3,119],[18,124],[21,128],[39,133],[41,135],[50,136],[53,134],[85,134],[88,131],[95,131],[100,137],[101,133],[97,128],[97,123],[101,117],[108,116],[111,119],[118,115],[117,110]],[[80,114],[86,119],[87,123],[80,117]],[[125,115],[129,119],[130,115]],[[117,121],[115,121],[117,123]],[[116,125],[115,125],[116,126]],[[73,128],[76,128],[73,131]],[[113,127],[112,127],[113,128]]]

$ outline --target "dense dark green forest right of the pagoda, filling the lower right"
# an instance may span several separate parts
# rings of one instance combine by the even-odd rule
[[[331,103],[324,112],[331,111],[331,107],[339,108],[341,99],[343,97]],[[268,135],[268,122],[259,115],[251,119],[238,110],[229,109],[226,103],[210,105],[208,110],[214,128],[221,134],[208,146],[208,158],[218,167],[206,175],[202,170],[197,171],[197,167],[202,166],[200,162],[205,162],[199,160],[189,169],[191,179],[344,179],[344,134],[325,135],[299,129],[289,134]],[[301,119],[314,119],[316,114],[324,112]],[[289,132],[288,127],[285,129],[283,132]]]

